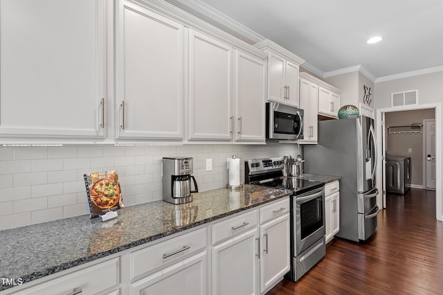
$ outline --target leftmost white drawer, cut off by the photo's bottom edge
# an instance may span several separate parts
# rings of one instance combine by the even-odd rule
[[[97,294],[120,283],[118,261],[119,258],[114,258],[15,294],[71,294],[80,290],[81,294]],[[109,292],[109,294],[115,294],[115,292]]]

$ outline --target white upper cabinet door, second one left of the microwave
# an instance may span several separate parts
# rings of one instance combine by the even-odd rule
[[[189,31],[188,139],[230,140],[233,48]]]

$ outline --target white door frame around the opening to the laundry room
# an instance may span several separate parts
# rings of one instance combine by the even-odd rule
[[[437,220],[443,221],[442,216],[442,104],[440,102],[431,103],[428,105],[404,105],[399,107],[388,107],[386,109],[377,109],[377,147],[379,152],[377,152],[377,188],[381,192],[377,196],[377,204],[381,208],[386,208],[385,195],[386,193],[386,183],[385,179],[382,177],[382,165],[383,160],[381,157],[383,156],[383,146],[382,146],[382,132],[384,132],[384,124],[382,125],[382,113],[389,113],[392,111],[413,111],[415,109],[435,109],[435,158],[436,161],[436,177],[437,177],[437,186],[435,188],[435,218]],[[383,194],[384,193],[384,194]]]

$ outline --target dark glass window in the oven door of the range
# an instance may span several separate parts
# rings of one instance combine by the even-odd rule
[[[323,200],[318,197],[300,204],[301,240],[323,226]]]

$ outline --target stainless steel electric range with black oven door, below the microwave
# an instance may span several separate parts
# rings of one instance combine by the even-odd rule
[[[291,196],[291,271],[297,281],[325,257],[325,183],[299,177],[284,177],[284,160],[245,161],[246,184],[293,190]]]

